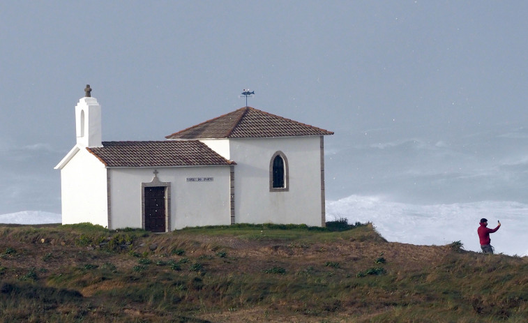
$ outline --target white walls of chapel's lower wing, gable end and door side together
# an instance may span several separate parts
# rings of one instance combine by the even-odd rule
[[[170,183],[167,231],[231,224],[229,167],[107,168],[85,149],[61,169],[62,223],[143,227],[142,183]],[[212,181],[187,181],[208,177]],[[204,198],[204,194],[206,198]]]

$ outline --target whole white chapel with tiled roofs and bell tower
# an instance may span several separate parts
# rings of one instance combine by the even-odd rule
[[[324,136],[333,132],[246,106],[165,140],[104,142],[101,107],[89,85],[85,93],[77,144],[55,167],[63,224],[324,226]]]

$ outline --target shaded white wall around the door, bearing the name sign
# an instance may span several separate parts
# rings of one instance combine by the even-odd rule
[[[229,166],[111,168],[112,229],[142,227],[142,183],[152,181],[154,170],[161,182],[171,183],[169,230],[231,223]],[[187,181],[194,177],[213,181]]]

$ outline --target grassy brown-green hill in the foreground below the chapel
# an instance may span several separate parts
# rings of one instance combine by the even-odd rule
[[[1,322],[528,322],[528,257],[349,230],[0,225]]]

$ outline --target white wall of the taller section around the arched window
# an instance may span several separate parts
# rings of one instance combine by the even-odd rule
[[[289,190],[269,191],[269,167],[285,154]],[[320,137],[230,139],[235,168],[236,223],[322,225]]]

